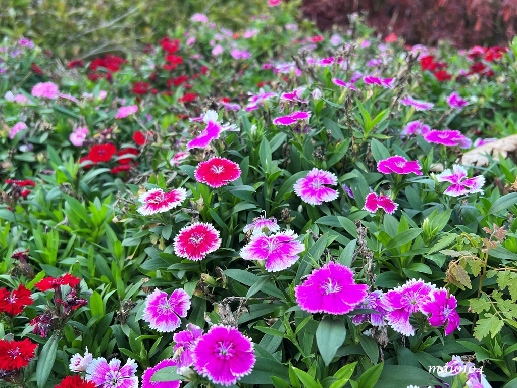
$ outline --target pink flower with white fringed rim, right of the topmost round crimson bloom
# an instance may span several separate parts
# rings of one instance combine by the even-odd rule
[[[313,168],[305,178],[300,178],[294,185],[294,192],[310,205],[321,205],[338,198],[338,190],[324,185],[337,185],[338,177],[328,171]]]

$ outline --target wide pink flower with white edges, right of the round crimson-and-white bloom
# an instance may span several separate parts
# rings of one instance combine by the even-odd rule
[[[240,256],[244,260],[266,260],[267,272],[283,271],[299,259],[298,253],[305,250],[305,245],[296,241],[296,238],[298,235],[293,230],[270,236],[256,234],[240,250]]]

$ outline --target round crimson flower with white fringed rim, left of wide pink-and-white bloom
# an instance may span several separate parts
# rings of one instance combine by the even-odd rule
[[[181,229],[174,237],[174,253],[193,261],[204,259],[220,246],[219,231],[211,223],[193,223]]]

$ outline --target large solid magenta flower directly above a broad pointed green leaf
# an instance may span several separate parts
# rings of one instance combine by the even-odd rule
[[[312,271],[294,294],[301,309],[311,314],[322,312],[333,315],[346,314],[368,294],[368,285],[358,285],[354,273],[347,266],[333,261]]]

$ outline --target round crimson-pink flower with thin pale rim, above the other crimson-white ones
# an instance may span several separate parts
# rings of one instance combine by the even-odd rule
[[[199,163],[194,171],[197,182],[210,187],[221,187],[237,180],[240,168],[237,163],[226,158],[215,157]]]

